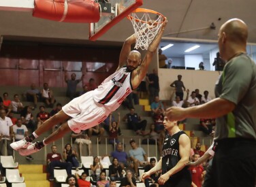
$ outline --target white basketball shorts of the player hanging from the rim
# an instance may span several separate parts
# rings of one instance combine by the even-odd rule
[[[93,91],[86,92],[62,107],[63,112],[71,117],[67,121],[74,133],[80,133],[100,124],[110,114],[110,110],[93,99]]]

